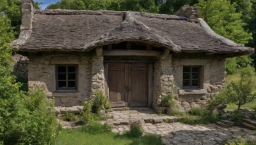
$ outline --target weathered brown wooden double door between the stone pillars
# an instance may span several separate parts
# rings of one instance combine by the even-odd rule
[[[109,63],[110,102],[124,102],[128,107],[148,106],[148,64]]]

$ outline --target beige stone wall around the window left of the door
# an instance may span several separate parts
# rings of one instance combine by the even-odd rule
[[[56,91],[56,65],[77,65],[77,91]],[[90,98],[92,54],[86,52],[29,53],[29,88],[44,86],[56,106],[78,106]]]

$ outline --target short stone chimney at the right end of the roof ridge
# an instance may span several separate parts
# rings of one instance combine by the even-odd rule
[[[198,8],[195,6],[184,5],[174,15],[183,16],[191,20],[198,18]]]

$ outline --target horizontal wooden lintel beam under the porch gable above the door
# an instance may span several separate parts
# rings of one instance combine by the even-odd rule
[[[152,56],[159,57],[163,55],[162,52],[152,50],[110,50],[104,51],[104,56]]]

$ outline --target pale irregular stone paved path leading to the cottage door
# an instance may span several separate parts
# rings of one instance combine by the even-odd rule
[[[256,139],[256,131],[246,128],[223,128],[216,124],[186,125],[173,122],[177,119],[175,117],[159,116],[147,108],[113,111],[107,115],[113,117],[102,123],[107,122],[112,125],[113,132],[122,134],[125,130],[129,130],[132,121],[140,121],[145,134],[161,135],[164,144],[221,144],[239,136],[244,139]]]

